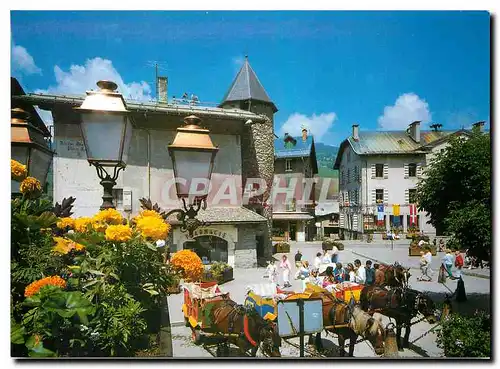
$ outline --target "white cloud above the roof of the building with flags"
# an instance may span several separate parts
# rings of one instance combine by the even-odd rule
[[[384,108],[384,115],[378,118],[378,126],[384,130],[400,130],[408,128],[414,121],[422,124],[432,119],[429,104],[413,92],[399,96],[392,106]]]

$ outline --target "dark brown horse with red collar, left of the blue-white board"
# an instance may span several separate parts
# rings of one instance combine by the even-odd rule
[[[251,350],[251,356],[255,357],[261,346],[265,355],[281,357],[281,337],[274,323],[262,318],[254,309],[238,305],[228,298],[210,302],[209,305],[210,330],[227,337],[226,343],[237,346],[241,356]]]

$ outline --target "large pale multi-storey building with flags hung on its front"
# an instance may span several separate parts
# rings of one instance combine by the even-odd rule
[[[428,224],[425,211],[413,210],[416,186],[425,167],[445,149],[450,137],[469,135],[464,129],[421,131],[420,122],[413,122],[406,131],[363,132],[353,125],[334,165],[339,170],[341,237],[357,239],[368,230],[385,233],[391,229],[439,236],[440,232]],[[395,210],[399,214],[394,214]]]

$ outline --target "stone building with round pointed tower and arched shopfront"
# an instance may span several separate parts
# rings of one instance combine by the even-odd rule
[[[95,169],[87,162],[79,127],[81,117],[74,109],[82,104],[84,92],[80,96],[31,93],[13,97],[52,112],[56,151],[53,197],[59,202],[64,197],[76,197],[74,216],[95,214],[102,196]],[[208,262],[224,261],[240,268],[252,267],[258,258],[269,257],[272,207],[262,204],[273,180],[273,114],[277,108],[248,60],[219,107],[203,106],[199,101],[168,102],[166,96],[156,102],[126,100],[126,104],[134,128],[127,167],[114,188],[116,208],[131,218],[141,210],[139,199],[143,197],[167,211],[182,207],[172,186],[172,161],[166,146],[173,141],[183,118],[196,115],[219,147],[207,208],[198,215],[209,225],[197,230],[196,242],[186,243],[186,235],[173,221],[169,240],[172,251],[194,248]],[[259,201],[244,206],[244,183],[250,177],[264,178],[269,187]],[[221,189],[233,183],[236,196],[224,196]]]

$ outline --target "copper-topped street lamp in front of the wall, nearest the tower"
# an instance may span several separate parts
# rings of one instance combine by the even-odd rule
[[[177,197],[182,199],[183,209],[171,210],[164,217],[166,219],[177,213],[181,231],[187,231],[190,238],[193,237],[194,230],[203,225],[196,216],[200,208],[205,210],[207,207],[210,178],[215,155],[219,151],[210,139],[210,131],[202,128],[200,123],[201,119],[194,115],[184,118],[184,126],[177,128],[174,141],[168,145]],[[203,189],[198,190],[192,186],[193,181],[202,183]]]

